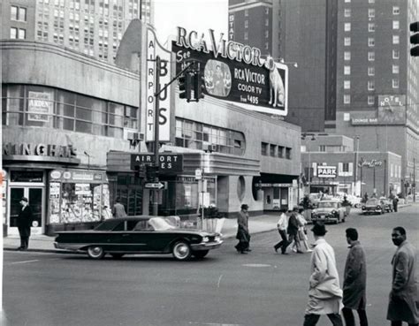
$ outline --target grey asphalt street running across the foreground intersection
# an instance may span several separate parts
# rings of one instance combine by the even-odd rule
[[[381,216],[351,214],[346,223],[327,226],[340,283],[347,257],[345,229],[355,227],[360,233],[368,262],[370,326],[388,324],[392,227],[405,227],[418,248],[418,208],[414,204]],[[246,255],[235,252],[235,239],[227,239],[206,259],[190,262],[176,262],[171,255],[93,261],[81,254],[4,252],[6,325],[301,325],[310,256],[276,254],[278,239],[277,231],[256,234],[253,251]],[[318,323],[328,324],[325,317]]]

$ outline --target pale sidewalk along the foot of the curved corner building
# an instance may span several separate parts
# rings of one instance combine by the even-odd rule
[[[248,228],[250,234],[261,233],[277,229],[278,215],[251,216],[248,219]],[[226,218],[221,233],[223,239],[231,239],[236,236],[237,220],[235,218]],[[47,235],[33,235],[29,239],[29,249],[27,251],[45,252],[45,253],[65,253],[66,250],[54,248],[55,237]],[[17,250],[20,245],[19,235],[10,235],[3,239],[4,250]]]

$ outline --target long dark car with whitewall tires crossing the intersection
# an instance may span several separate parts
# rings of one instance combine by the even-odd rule
[[[54,246],[86,252],[90,258],[105,254],[173,254],[179,261],[191,256],[203,258],[223,243],[221,235],[206,231],[179,229],[164,217],[136,216],[111,218],[94,230],[57,232]]]

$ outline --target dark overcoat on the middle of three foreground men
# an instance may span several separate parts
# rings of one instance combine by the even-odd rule
[[[359,241],[349,247],[343,280],[343,305],[351,309],[365,309],[367,264]],[[362,303],[362,306],[360,306]]]

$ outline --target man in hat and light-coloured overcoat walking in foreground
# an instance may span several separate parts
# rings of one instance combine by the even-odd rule
[[[309,303],[303,326],[316,325],[321,315],[327,315],[333,326],[343,326],[339,315],[342,307],[342,290],[339,287],[335,253],[324,239],[327,232],[324,224],[316,223],[311,231],[316,242],[311,253]]]

